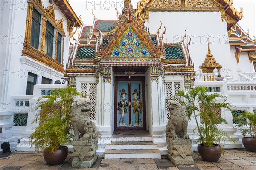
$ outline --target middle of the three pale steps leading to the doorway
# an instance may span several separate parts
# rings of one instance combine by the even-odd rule
[[[105,148],[106,150],[157,149],[157,144],[151,141],[119,141],[105,145]]]

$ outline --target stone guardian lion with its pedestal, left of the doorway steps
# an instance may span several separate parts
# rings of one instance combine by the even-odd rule
[[[96,150],[100,133],[89,118],[90,109],[91,103],[87,98],[79,98],[73,104],[71,124],[75,137],[72,141],[72,167],[92,167],[97,160]]]

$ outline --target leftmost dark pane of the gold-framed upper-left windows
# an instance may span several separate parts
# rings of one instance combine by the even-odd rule
[[[39,47],[40,20],[41,14],[34,8],[32,13],[30,45],[36,49]]]

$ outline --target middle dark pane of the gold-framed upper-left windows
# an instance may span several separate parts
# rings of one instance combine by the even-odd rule
[[[53,53],[53,36],[54,36],[54,27],[49,21],[46,22],[46,32],[45,32],[45,54],[49,55],[52,58]]]

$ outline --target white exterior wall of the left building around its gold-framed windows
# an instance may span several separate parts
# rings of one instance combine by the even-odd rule
[[[31,100],[31,95],[26,95],[26,86],[28,79],[28,72],[32,72],[37,76],[37,84],[41,84],[42,77],[52,79],[52,84],[55,80],[61,80],[62,73],[55,71],[54,69],[45,66],[29,57],[21,56],[23,50],[23,43],[26,29],[27,18],[27,1],[6,1],[5,4],[1,4],[1,81],[0,81],[0,127],[2,127],[2,133],[0,133],[0,143],[2,141],[13,141],[13,137],[20,138],[22,136],[29,136],[25,134],[27,127],[12,127],[13,126],[13,114],[14,113],[29,113],[32,109],[20,110],[15,106],[16,101],[21,99]],[[3,6],[2,6],[3,5]],[[47,8],[49,0],[43,1],[43,6]],[[38,12],[40,12],[38,10]],[[62,45],[64,44],[64,66],[68,60],[68,32],[67,32],[67,18],[55,6],[55,18],[60,20],[63,18],[63,27],[65,32],[64,42],[62,39]],[[41,16],[42,21],[42,16]],[[52,24],[54,26],[54,24]],[[42,25],[41,25],[42,26]],[[61,32],[60,32],[61,33]],[[62,34],[62,33],[61,33]],[[41,30],[40,30],[41,35]],[[62,35],[64,36],[64,35]],[[39,42],[41,40],[39,39]],[[40,45],[39,45],[40,47]],[[62,46],[61,46],[62,48]],[[53,49],[55,49],[55,37]],[[62,50],[61,50],[62,52]],[[53,50],[54,54],[54,50]],[[33,106],[35,100],[30,101],[30,106]],[[32,116],[32,115],[29,115]],[[31,120],[28,123],[30,125]],[[11,129],[10,129],[11,128]],[[11,131],[10,131],[11,130]],[[14,133],[15,132],[15,133]],[[25,132],[25,133],[23,133]],[[16,140],[16,139],[15,139]],[[15,141],[17,144],[17,140]],[[15,145],[16,145],[15,144]]]

